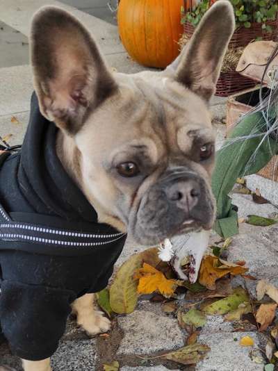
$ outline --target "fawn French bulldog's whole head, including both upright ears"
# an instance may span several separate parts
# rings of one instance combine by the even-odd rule
[[[208,100],[234,31],[228,1],[203,17],[164,72],[112,73],[90,33],[60,8],[34,17],[31,59],[42,115],[99,222],[150,244],[210,229],[215,136]]]

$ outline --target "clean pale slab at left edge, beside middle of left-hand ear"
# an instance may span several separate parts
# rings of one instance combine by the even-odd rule
[[[26,112],[33,92],[31,68],[28,65],[0,69],[0,116]]]

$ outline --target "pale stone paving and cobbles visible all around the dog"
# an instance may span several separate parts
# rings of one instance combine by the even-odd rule
[[[13,136],[13,144],[22,141],[28,122],[29,100],[32,87],[31,69],[28,66],[28,30],[31,15],[40,6],[52,3],[64,6],[88,26],[100,44],[109,65],[120,72],[138,72],[141,66],[127,56],[117,35],[115,15],[108,9],[108,0],[1,0],[0,2],[0,135]],[[63,4],[64,3],[64,4]],[[78,4],[78,6],[76,6]],[[114,5],[114,4],[113,4]],[[75,6],[72,8],[71,6]],[[76,9],[77,8],[77,9]],[[213,116],[221,120],[225,115],[225,101],[215,98],[211,109]],[[12,117],[14,117],[12,119]],[[218,146],[224,138],[224,125],[217,125]],[[277,186],[266,182],[260,176],[248,177],[247,184],[252,189],[260,188],[263,195],[278,204]],[[272,204],[254,204],[250,195],[233,195],[239,206],[240,216],[253,213],[269,216],[276,213]],[[250,274],[270,279],[277,283],[277,226],[254,227],[240,225],[240,235],[236,236],[227,251],[231,261],[245,260]],[[118,265],[133,252],[140,250],[129,241],[126,244]],[[263,267],[263,269],[262,269]],[[254,284],[250,284],[254,292]],[[199,340],[211,347],[208,356],[197,365],[198,371],[262,371],[263,365],[252,362],[249,349],[238,347],[235,339],[243,336],[234,327],[223,322],[220,316],[208,318],[199,334]],[[246,334],[255,340],[256,347],[263,347],[263,339],[254,329]],[[67,333],[60,343],[52,362],[55,371],[102,370],[104,361],[120,361],[122,371],[163,371],[192,370],[177,364],[155,358],[144,361],[138,355],[154,356],[157,352],[177,349],[183,345],[186,331],[179,328],[172,315],[161,311],[161,304],[142,300],[131,315],[118,316],[113,322],[109,338],[88,339],[69,322]],[[235,362],[237,360],[237,362]],[[0,347],[0,365],[6,364],[20,370],[19,361],[10,354],[6,345]]]

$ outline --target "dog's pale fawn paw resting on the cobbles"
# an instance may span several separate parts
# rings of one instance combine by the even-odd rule
[[[77,323],[88,336],[94,336],[97,333],[106,332],[111,329],[111,321],[100,311],[94,311],[92,315],[84,317],[82,320],[79,318]]]

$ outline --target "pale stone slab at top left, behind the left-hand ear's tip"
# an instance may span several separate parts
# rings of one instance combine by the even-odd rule
[[[102,21],[97,17],[83,13],[81,10],[67,6],[55,0],[1,0],[0,19],[9,26],[28,36],[31,26],[31,19],[35,11],[41,6],[60,6],[75,15],[86,26],[95,40],[101,46],[104,54],[120,53],[124,47],[117,35],[117,27]]]

